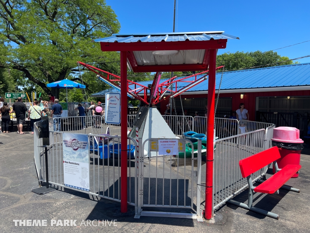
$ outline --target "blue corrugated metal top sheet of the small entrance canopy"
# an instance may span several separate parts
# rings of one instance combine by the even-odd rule
[[[160,42],[160,41],[203,41],[210,39],[239,39],[232,35],[217,32],[175,32],[150,34],[112,34],[110,37],[95,39],[94,42]]]

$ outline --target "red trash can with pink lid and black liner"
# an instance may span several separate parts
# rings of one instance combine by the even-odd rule
[[[303,140],[299,138],[299,129],[294,127],[277,127],[273,129],[272,146],[277,146],[281,158],[277,159],[279,168],[288,164],[300,164],[300,153],[303,149]],[[273,168],[273,173],[275,169]],[[292,178],[297,178],[296,173]]]

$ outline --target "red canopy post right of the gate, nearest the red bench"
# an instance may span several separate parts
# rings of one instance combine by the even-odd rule
[[[213,137],[215,108],[215,68],[216,49],[210,49],[208,80],[208,114],[207,114],[207,156],[206,156],[206,203],[205,218],[212,217],[213,202]]]

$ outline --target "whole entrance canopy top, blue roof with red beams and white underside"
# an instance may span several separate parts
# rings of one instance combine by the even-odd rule
[[[209,66],[210,49],[226,48],[227,39],[213,32],[113,34],[95,39],[102,51],[127,51],[127,66],[134,72],[202,71]]]

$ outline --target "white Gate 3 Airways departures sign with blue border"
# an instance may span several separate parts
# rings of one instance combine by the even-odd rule
[[[105,122],[108,124],[121,123],[121,94],[105,94]]]

